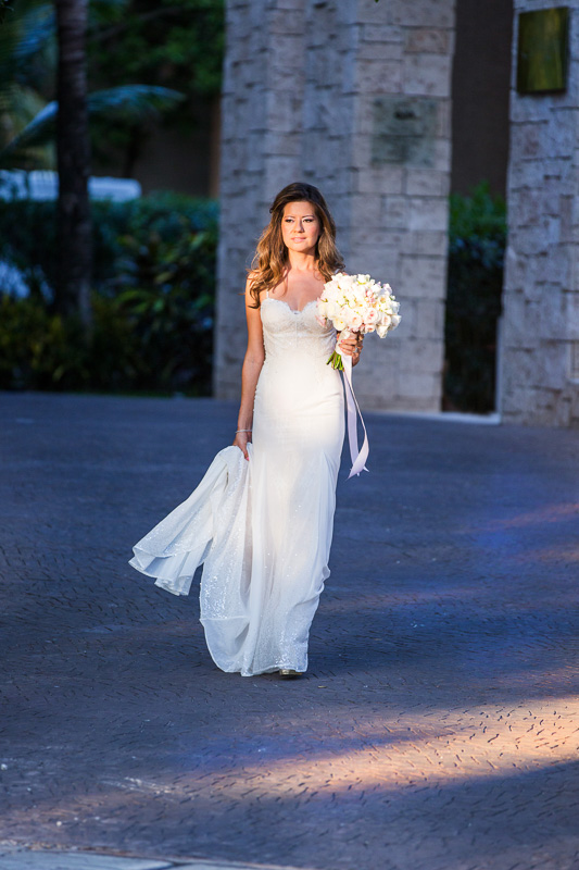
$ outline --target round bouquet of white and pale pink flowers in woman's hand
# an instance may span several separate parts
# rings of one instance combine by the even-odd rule
[[[331,321],[340,338],[353,333],[365,335],[378,333],[383,338],[400,323],[400,302],[397,302],[389,284],[379,284],[369,275],[347,275],[339,272],[324,285],[317,300],[317,320],[324,326]],[[338,347],[328,360],[328,365],[343,371]]]

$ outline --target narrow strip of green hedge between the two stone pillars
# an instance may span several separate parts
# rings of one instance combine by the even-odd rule
[[[450,217],[444,408],[484,413],[495,407],[505,203],[481,184],[451,196]]]

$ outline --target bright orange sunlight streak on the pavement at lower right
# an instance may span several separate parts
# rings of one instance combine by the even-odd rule
[[[388,720],[386,720],[388,721]],[[568,762],[579,749],[579,699],[543,699],[515,706],[477,706],[468,710],[405,713],[395,724],[383,716],[368,717],[356,728],[356,742],[340,750],[304,747],[291,757],[262,756],[255,761],[221,768],[213,794],[241,799],[250,793],[290,795],[364,790],[398,791],[445,783],[504,778]],[[356,746],[356,743],[360,746]],[[203,765],[189,770],[179,784],[149,779],[101,780],[126,791],[178,795],[196,792]],[[199,782],[199,786],[201,783]],[[201,788],[200,788],[201,791]]]

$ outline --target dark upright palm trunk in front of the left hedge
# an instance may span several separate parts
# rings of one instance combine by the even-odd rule
[[[86,32],[88,0],[55,0],[59,36],[59,279],[55,308],[91,322],[92,237],[88,178]]]

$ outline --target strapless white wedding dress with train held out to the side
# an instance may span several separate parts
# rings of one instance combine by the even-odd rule
[[[336,345],[315,302],[301,311],[266,298],[265,344],[248,462],[226,447],[189,496],[134,547],[130,564],[187,595],[197,567],[201,622],[224,671],[243,676],[307,668],[324,582],[343,442]]]

